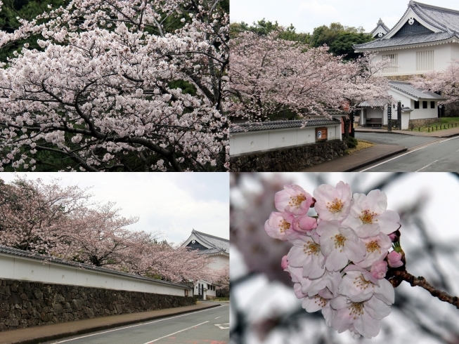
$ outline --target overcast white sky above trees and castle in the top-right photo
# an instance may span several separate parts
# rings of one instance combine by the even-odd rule
[[[459,10],[458,0],[419,2]],[[340,22],[370,32],[380,18],[392,29],[408,8],[408,0],[231,0],[230,6],[231,22],[252,24],[265,18],[310,33],[314,27]]]

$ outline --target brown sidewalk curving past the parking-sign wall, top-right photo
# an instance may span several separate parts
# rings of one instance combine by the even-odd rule
[[[408,148],[399,145],[375,145],[365,150],[344,155],[316,166],[306,167],[299,172],[351,172],[374,162],[392,157],[392,155],[406,152]]]

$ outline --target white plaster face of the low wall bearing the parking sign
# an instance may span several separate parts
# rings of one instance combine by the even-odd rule
[[[323,127],[325,126],[232,133],[230,135],[230,155],[315,143],[316,128]],[[328,140],[341,140],[341,124],[326,127],[328,128]]]

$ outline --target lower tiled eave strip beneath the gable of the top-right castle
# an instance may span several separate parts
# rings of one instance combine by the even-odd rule
[[[354,49],[378,49],[378,48],[389,48],[392,46],[409,46],[412,44],[432,43],[436,41],[444,41],[458,37],[458,34],[450,34],[448,32],[438,32],[431,34],[409,34],[406,36],[391,37],[389,39],[380,38],[375,41],[370,41],[364,44],[355,44]]]

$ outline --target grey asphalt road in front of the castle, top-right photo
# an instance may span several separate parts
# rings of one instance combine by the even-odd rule
[[[419,137],[413,137],[413,139],[414,138],[420,139]],[[422,139],[426,138],[422,137]],[[401,140],[403,140],[403,138],[401,138]],[[375,141],[373,140],[373,142]],[[413,144],[418,142],[419,141],[414,140]],[[421,147],[415,147],[412,145],[408,152],[377,162],[373,165],[366,166],[357,171],[459,172],[459,136],[443,139],[434,138],[432,143],[429,144],[427,141],[427,143]]]

